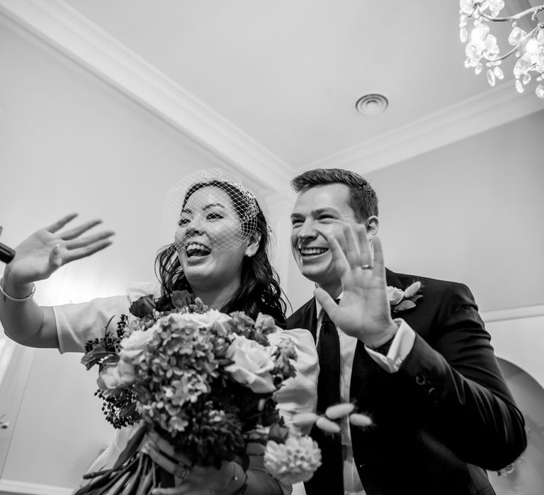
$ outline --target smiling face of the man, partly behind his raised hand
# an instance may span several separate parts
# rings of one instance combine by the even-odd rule
[[[302,275],[325,290],[341,290],[326,236],[342,237],[356,221],[348,186],[335,182],[302,190],[291,214],[291,250]]]

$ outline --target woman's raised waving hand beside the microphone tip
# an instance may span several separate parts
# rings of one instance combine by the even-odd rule
[[[15,248],[16,255],[13,260],[6,265],[4,283],[23,286],[47,279],[63,264],[92,255],[111,244],[109,238],[113,235],[112,231],[83,235],[101,223],[101,220],[87,221],[62,231],[76,216],[77,214],[64,216],[23,240]]]

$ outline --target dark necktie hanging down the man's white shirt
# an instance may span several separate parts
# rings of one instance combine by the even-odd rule
[[[317,412],[324,413],[327,407],[340,402],[340,339],[336,326],[325,312],[319,330],[317,356]]]

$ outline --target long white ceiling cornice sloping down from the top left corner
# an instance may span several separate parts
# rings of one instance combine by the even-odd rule
[[[0,0],[0,12],[111,83],[266,190],[290,166],[62,0]]]

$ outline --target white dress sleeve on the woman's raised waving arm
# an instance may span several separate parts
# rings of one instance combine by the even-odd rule
[[[137,282],[128,286],[125,296],[96,298],[86,303],[53,306],[60,353],[84,352],[86,342],[103,337],[106,326],[110,330],[117,328],[120,315],[128,315],[132,301],[156,291],[157,284]]]

